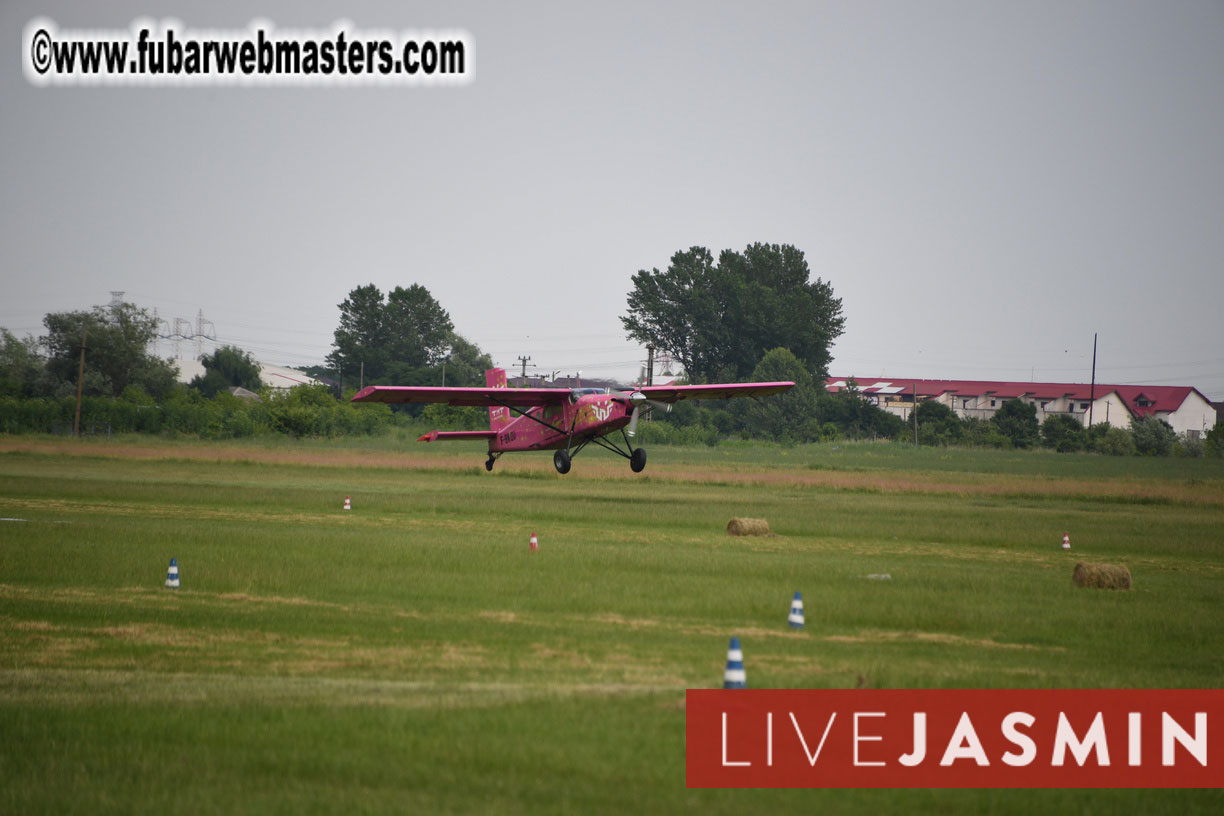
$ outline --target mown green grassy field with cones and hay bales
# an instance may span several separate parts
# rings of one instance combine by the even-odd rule
[[[0,437],[0,812],[1224,811],[688,790],[683,705],[732,635],[753,688],[1220,688],[1219,461],[410,439]]]

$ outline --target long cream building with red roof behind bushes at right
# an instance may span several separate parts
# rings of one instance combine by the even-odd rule
[[[909,416],[914,401],[935,400],[962,418],[989,420],[1005,400],[1018,399],[1037,409],[1038,422],[1055,414],[1073,416],[1083,425],[1106,422],[1125,428],[1131,417],[1154,416],[1179,434],[1202,437],[1215,425],[1215,409],[1190,385],[1106,385],[1097,383],[1011,383],[961,379],[854,380],[864,399],[896,414]],[[846,388],[848,378],[830,377],[826,388]]]

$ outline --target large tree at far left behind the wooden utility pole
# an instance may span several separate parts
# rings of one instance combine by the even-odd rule
[[[89,312],[54,312],[43,318],[47,371],[61,395],[73,393],[86,334],[84,393],[119,396],[138,385],[162,398],[175,387],[177,368],[148,352],[157,336],[157,319],[132,303],[95,306]]]

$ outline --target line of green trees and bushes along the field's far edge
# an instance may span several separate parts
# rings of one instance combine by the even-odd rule
[[[181,385],[174,362],[148,352],[157,321],[131,303],[48,314],[39,339],[0,329],[0,432],[62,429],[73,418],[78,385],[86,427],[113,432],[330,437],[384,433],[414,418],[443,429],[487,427],[481,409],[346,401],[359,384],[483,385],[493,361],[455,332],[425,286],[357,286],[338,308],[332,351],[322,365],[302,368],[334,383],[330,389],[264,389],[258,363],[233,346],[203,357],[203,374]],[[825,389],[831,347],[845,330],[842,302],[827,281],[813,279],[793,246],[752,243],[717,258],[700,246],[676,252],[665,270],[632,276],[621,321],[629,339],[679,361],[689,382],[796,383],[769,399],[679,402],[656,412],[644,431],[655,443],[913,440],[913,425],[863,399],[853,383]],[[259,399],[235,398],[234,387]],[[1153,417],[1130,428],[1084,428],[1069,416],[1039,426],[1036,407],[1020,400],[1004,402],[989,420],[962,420],[933,401],[918,404],[914,416],[917,442],[927,445],[1224,455],[1220,426],[1206,439],[1179,438]]]

